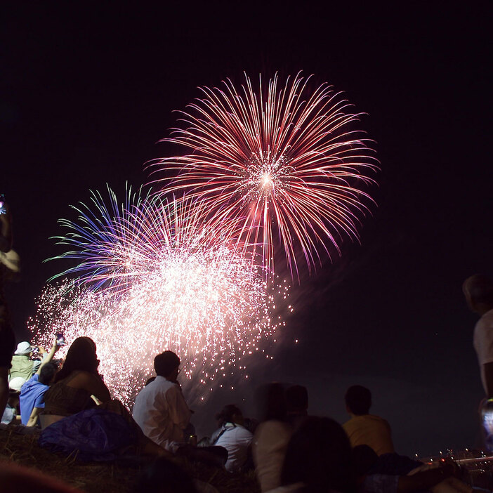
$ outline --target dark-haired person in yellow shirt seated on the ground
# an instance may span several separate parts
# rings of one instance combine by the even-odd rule
[[[346,391],[346,411],[351,419],[343,424],[351,447],[369,445],[377,455],[394,452],[390,426],[380,416],[368,414],[372,393],[363,386],[354,385]]]

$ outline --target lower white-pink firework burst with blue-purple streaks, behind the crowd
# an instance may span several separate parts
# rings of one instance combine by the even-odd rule
[[[125,402],[162,350],[176,351],[188,379],[204,385],[241,373],[242,358],[262,352],[261,341],[283,324],[272,317],[273,290],[286,298],[287,285],[265,282],[228,244],[227,228],[202,221],[200,204],[128,194],[119,208],[109,191],[109,208],[93,195],[99,217],[84,206],[78,222],[62,221],[69,234],[58,240],[72,248],[62,257],[80,261],[70,272],[81,277],[46,289],[32,331],[93,337],[105,380]]]

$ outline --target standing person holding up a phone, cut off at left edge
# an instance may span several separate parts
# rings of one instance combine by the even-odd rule
[[[12,218],[11,211],[0,195],[0,258],[12,250]],[[0,263],[0,415],[8,400],[8,369],[11,367],[12,353],[15,348],[15,336],[11,325],[8,307],[4,293],[4,281],[11,268],[2,261]]]

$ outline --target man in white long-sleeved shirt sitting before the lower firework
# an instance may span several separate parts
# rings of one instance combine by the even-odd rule
[[[180,358],[172,351],[164,351],[155,357],[154,368],[157,376],[138,393],[133,419],[153,442],[176,452],[186,441],[184,433],[192,415],[176,381]]]

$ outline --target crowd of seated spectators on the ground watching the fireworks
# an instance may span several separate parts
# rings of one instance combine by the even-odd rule
[[[32,353],[27,344],[19,345],[25,355]],[[20,407],[22,425],[41,428],[42,447],[65,454],[77,450],[81,460],[153,457],[135,491],[144,491],[143,485],[150,492],[215,491],[188,477],[180,467],[186,457],[232,474],[252,471],[261,492],[473,492],[452,461],[430,466],[396,454],[390,426],[369,414],[372,395],[362,386],[346,391],[349,419],[341,426],[310,416],[305,387],[270,383],[255,395],[259,421],[226,405],[216,414],[211,438],[197,444],[175,353],[155,357],[156,375],[138,393],[131,414],[111,398],[91,338],[77,338],[60,369],[52,362],[57,350],[55,340],[39,364],[31,364],[30,376],[13,372],[13,379],[25,380],[20,392],[11,389],[19,395],[14,407]],[[164,478],[168,489],[162,489]]]

